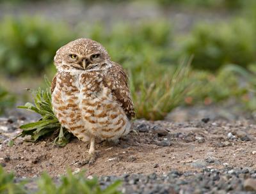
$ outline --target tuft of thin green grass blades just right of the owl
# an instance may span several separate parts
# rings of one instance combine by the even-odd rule
[[[168,69],[166,69],[168,70]],[[185,96],[191,91],[195,82],[189,78],[189,64],[180,65],[177,70],[169,69],[161,76],[147,79],[147,74],[140,75],[144,80],[130,85],[137,118],[149,120],[163,119],[173,108],[184,103]]]

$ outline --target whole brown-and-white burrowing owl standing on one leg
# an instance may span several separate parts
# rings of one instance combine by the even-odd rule
[[[111,61],[97,41],[81,38],[61,47],[54,57],[58,70],[52,80],[52,107],[60,123],[79,140],[118,140],[130,131],[134,116],[127,74]]]

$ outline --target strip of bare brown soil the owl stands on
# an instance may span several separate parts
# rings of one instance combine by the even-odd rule
[[[3,120],[0,125],[15,128],[17,123]],[[73,172],[86,169],[88,175],[97,176],[160,174],[170,170],[188,172],[200,171],[200,168],[256,169],[254,121],[208,121],[205,118],[174,123],[136,120],[132,130],[118,144],[98,141],[99,158],[91,166],[80,165],[83,155],[88,154],[89,145],[77,138],[65,147],[54,146],[46,139],[32,143],[22,138],[15,140],[15,146],[8,147],[8,139],[3,140],[0,163],[6,170],[15,172],[17,177],[36,177],[44,171],[55,177],[65,174],[67,168]]]

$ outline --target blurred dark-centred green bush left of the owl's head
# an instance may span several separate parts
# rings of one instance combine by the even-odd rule
[[[4,75],[33,75],[52,64],[58,48],[74,39],[68,27],[40,17],[0,22],[0,67]]]

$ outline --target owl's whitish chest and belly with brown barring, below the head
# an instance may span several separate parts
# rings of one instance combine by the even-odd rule
[[[60,123],[83,141],[92,135],[115,140],[130,130],[129,119],[100,71],[58,72],[52,107]]]

